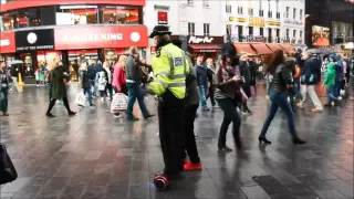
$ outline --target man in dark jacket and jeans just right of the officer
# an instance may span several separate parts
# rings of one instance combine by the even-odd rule
[[[198,90],[199,90],[199,97],[201,104],[201,111],[210,111],[207,105],[207,91],[208,91],[208,73],[207,67],[202,63],[204,57],[197,57],[197,64],[195,70],[197,72],[197,82],[198,82]]]

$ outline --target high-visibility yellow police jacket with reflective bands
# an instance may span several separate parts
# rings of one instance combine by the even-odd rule
[[[190,71],[190,62],[185,52],[169,43],[164,45],[152,60],[154,82],[148,88],[156,95],[169,90],[177,98],[186,96],[186,74]]]

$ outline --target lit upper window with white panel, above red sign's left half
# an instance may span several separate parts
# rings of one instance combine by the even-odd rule
[[[97,23],[96,6],[61,6],[56,10],[56,24],[94,24]]]

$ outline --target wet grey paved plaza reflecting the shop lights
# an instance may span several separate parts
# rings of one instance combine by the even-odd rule
[[[74,111],[76,90],[70,88]],[[324,96],[322,94],[322,96]],[[152,98],[152,97],[150,97]],[[321,97],[322,102],[325,101]],[[62,104],[46,118],[48,91],[25,87],[10,94],[10,117],[0,118],[0,142],[19,178],[1,187],[1,199],[353,199],[353,96],[341,107],[295,116],[304,146],[294,146],[282,112],[258,144],[269,102],[263,86],[250,101],[253,115],[241,126],[243,149],[219,154],[222,112],[199,113],[195,127],[201,171],[184,172],[169,191],[152,184],[163,170],[157,117],[113,118],[108,102],[67,117]],[[148,100],[156,113],[156,102]],[[231,126],[228,146],[233,148]]]

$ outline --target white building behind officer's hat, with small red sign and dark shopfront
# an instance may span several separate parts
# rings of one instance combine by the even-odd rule
[[[185,50],[214,56],[220,50],[219,44],[223,43],[220,6],[219,1],[212,0],[147,0],[144,22],[149,32],[157,24],[166,24],[173,38],[183,40]],[[147,54],[154,54],[153,40],[149,40],[149,45]]]

